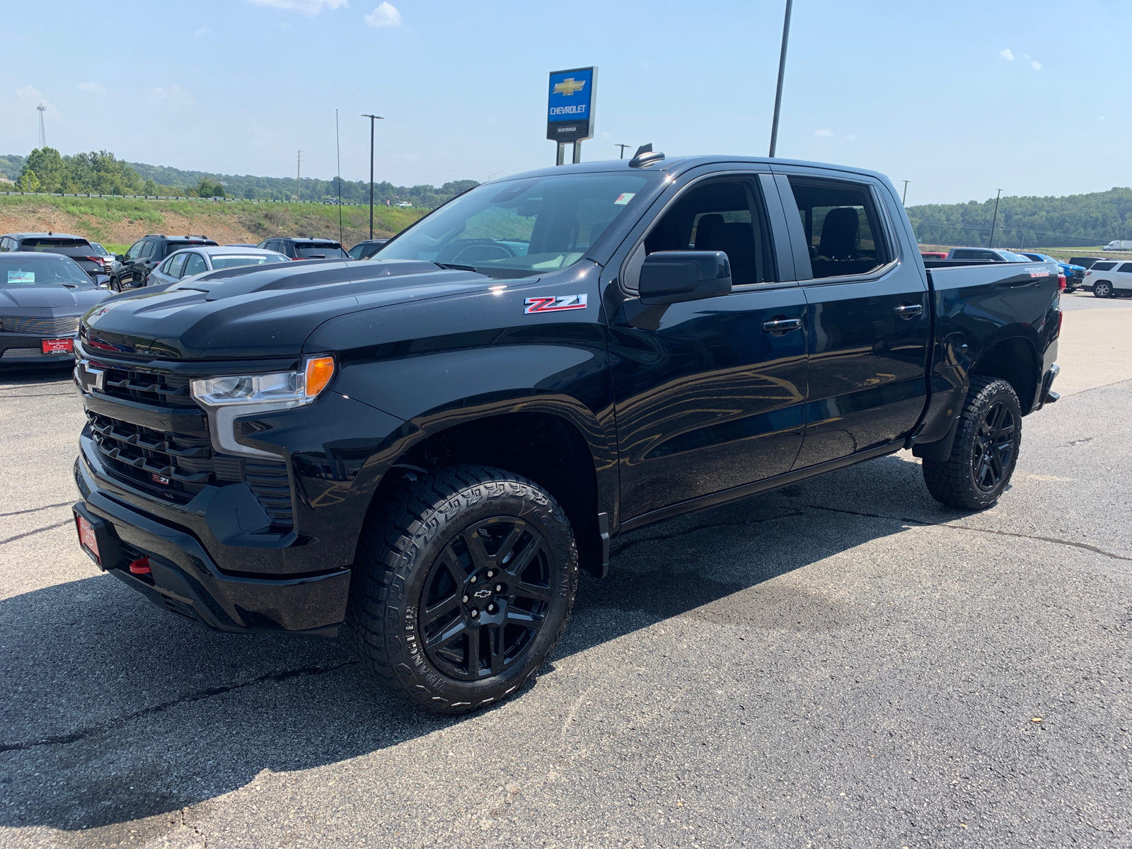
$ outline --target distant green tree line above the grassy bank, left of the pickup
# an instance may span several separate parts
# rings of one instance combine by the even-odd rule
[[[100,195],[147,195],[166,197],[229,197],[249,200],[336,200],[369,203],[369,183],[337,178],[319,180],[303,178],[252,177],[250,174],[211,174],[181,171],[164,165],[125,162],[109,151],[92,151],[63,156],[52,147],[36,148],[26,156],[0,156],[2,165],[14,177],[19,191],[48,191]],[[453,180],[444,186],[394,186],[388,181],[374,185],[374,200],[383,206],[401,201],[435,208],[451,198],[478,186],[475,180]],[[298,189],[301,189],[301,196]]]

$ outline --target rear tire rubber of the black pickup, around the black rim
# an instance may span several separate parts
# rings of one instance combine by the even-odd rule
[[[985,454],[979,452],[979,457],[976,457],[976,452],[987,437],[980,429],[983,431],[988,429],[988,413],[997,414],[998,410],[1004,410],[1012,420],[1011,449],[1009,458],[1000,462],[1001,477],[988,487],[985,478],[981,484],[977,480],[979,457]],[[1021,441],[1022,409],[1014,387],[996,377],[972,377],[963,411],[959,417],[951,456],[944,462],[924,461],[924,482],[927,484],[927,491],[935,500],[949,507],[981,511],[993,506],[1010,483],[1014,465],[1018,463]],[[994,475],[993,468],[990,474]]]

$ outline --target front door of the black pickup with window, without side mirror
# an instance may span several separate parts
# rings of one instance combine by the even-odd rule
[[[661,307],[631,298],[610,320],[621,522],[794,464],[806,302],[796,282],[779,282],[792,275],[778,273],[771,241],[758,180],[707,177],[680,190],[628,254],[621,284],[632,292],[646,254],[723,250],[732,292]]]

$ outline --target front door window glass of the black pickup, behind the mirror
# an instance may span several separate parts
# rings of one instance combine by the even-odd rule
[[[731,282],[741,286],[774,280],[762,195],[751,180],[713,180],[680,195],[649,231],[645,254],[662,250],[721,250]],[[635,261],[631,265],[637,266]],[[644,257],[640,257],[643,261]],[[635,281],[626,275],[626,285]],[[635,276],[635,275],[633,275]]]

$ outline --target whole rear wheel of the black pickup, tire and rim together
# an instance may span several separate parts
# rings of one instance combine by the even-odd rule
[[[1022,409],[1014,387],[997,377],[972,377],[951,455],[924,460],[924,483],[949,507],[986,509],[1010,484],[1021,441]]]

